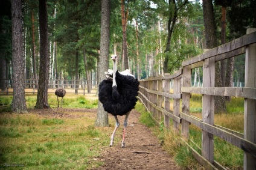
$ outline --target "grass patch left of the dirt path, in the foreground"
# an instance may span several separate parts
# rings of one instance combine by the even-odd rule
[[[73,113],[70,113],[73,114]],[[110,129],[95,128],[91,113],[48,118],[36,114],[0,115],[0,165],[8,169],[89,169],[108,145]]]

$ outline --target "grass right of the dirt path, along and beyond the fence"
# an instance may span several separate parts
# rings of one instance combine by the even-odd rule
[[[226,105],[228,112],[215,114],[214,124],[243,133],[243,106],[243,98],[232,97],[231,102]],[[153,127],[152,130],[155,132],[155,135],[158,136],[159,142],[164,143],[165,150],[174,157],[176,163],[184,169],[204,169],[197,160],[193,158],[188,147],[181,142],[181,132],[174,132],[172,128],[168,130],[163,129],[161,126],[162,121],[160,122],[160,126],[155,128],[152,126],[154,121],[143,108],[144,105],[142,105],[142,103],[137,103],[135,108],[141,113],[141,123],[146,124],[148,127]],[[202,95],[192,95],[190,114],[202,119]],[[170,126],[173,126],[172,120],[170,120]],[[189,136],[189,144],[194,150],[201,153],[201,130],[191,124]],[[230,169],[243,169],[243,151],[216,136],[214,136],[214,160]]]

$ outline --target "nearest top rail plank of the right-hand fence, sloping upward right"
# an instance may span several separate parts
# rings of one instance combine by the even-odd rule
[[[237,38],[233,41],[230,41],[229,43],[223,44],[222,46],[215,47],[214,49],[208,50],[200,55],[194,56],[193,58],[187,59],[186,61],[182,62],[182,67],[202,61],[203,59],[210,58],[212,56],[221,55],[222,53],[240,49],[253,43],[256,43],[256,32],[243,35],[243,37]]]

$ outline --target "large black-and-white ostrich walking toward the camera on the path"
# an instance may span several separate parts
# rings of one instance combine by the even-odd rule
[[[112,114],[116,121],[114,132],[110,138],[110,147],[114,143],[115,132],[120,125],[117,116],[126,115],[124,119],[123,140],[121,143],[121,147],[124,148],[127,120],[130,111],[135,107],[138,100],[136,96],[138,96],[139,82],[129,73],[129,70],[117,71],[117,55],[112,55],[111,59],[113,60],[113,71],[108,70],[105,72],[107,79],[104,79],[100,83],[98,97],[103,104],[104,110]]]

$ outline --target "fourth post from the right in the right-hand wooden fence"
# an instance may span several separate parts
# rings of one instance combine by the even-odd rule
[[[181,77],[174,78],[174,85],[173,85],[173,94],[180,94],[181,93]],[[180,108],[180,99],[173,100],[173,115],[179,117],[179,108]],[[173,128],[174,130],[179,130],[179,122],[173,120]]]

